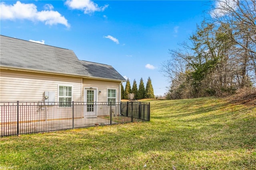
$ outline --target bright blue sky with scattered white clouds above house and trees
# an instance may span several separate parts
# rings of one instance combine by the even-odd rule
[[[155,95],[168,87],[160,67],[169,49],[186,41],[210,9],[208,1],[0,3],[1,35],[71,49],[78,59],[112,65],[131,85],[142,77],[146,86],[150,77]]]

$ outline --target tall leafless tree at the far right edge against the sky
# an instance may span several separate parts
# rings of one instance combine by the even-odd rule
[[[241,87],[256,81],[256,0],[216,0],[210,11],[211,20],[227,25],[230,39],[241,47]]]

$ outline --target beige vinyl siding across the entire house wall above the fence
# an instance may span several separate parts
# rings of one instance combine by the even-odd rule
[[[4,102],[44,101],[45,91],[54,91],[55,102],[57,102],[58,85],[72,86],[72,101],[74,102],[84,101],[84,87],[98,88],[96,91],[98,102],[107,102],[107,88],[116,89],[116,102],[120,102],[120,81],[81,79],[81,77],[7,69],[0,69],[0,73],[0,101]]]

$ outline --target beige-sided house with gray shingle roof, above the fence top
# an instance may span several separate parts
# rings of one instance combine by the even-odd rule
[[[110,65],[79,60],[70,49],[0,36],[0,54],[0,102],[121,100],[126,79]]]

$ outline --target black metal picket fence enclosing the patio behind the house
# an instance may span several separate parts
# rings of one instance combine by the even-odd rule
[[[0,102],[0,136],[150,121],[150,103]]]

